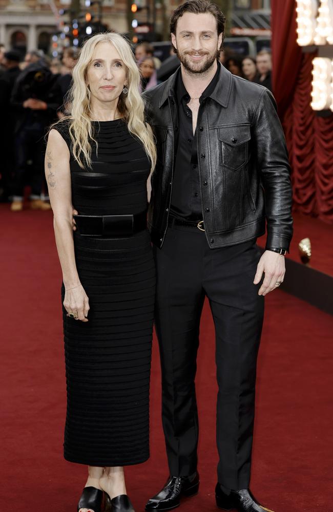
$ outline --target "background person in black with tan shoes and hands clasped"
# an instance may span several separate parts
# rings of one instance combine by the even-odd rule
[[[35,52],[30,52],[30,55],[35,55]],[[29,63],[16,80],[11,97],[11,106],[16,115],[12,211],[23,209],[26,181],[31,185],[30,207],[50,209],[50,204],[41,200],[44,184],[44,136],[48,126],[56,120],[56,111],[62,100],[57,77],[41,58]],[[30,176],[27,177],[29,159],[32,160],[32,165],[29,166]],[[47,194],[46,184],[44,187]]]

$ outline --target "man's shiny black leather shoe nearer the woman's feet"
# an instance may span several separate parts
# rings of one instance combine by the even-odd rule
[[[169,477],[163,489],[154,496],[145,510],[172,510],[180,505],[181,498],[189,498],[197,494],[199,490],[199,474],[194,473],[190,477]]]

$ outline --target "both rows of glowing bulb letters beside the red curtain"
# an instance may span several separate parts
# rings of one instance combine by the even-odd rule
[[[300,46],[333,45],[333,0],[297,0],[297,42]],[[333,112],[333,60],[313,59],[311,108]]]

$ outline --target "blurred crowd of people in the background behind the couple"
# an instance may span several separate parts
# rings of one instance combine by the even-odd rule
[[[76,48],[67,48],[61,59],[50,59],[36,50],[22,59],[16,50],[6,52],[0,45],[0,108],[6,119],[0,128],[0,202],[10,201],[12,211],[24,208],[25,185],[31,187],[30,208],[50,209],[44,178],[45,134],[50,124],[68,113],[66,97],[78,55]],[[148,42],[136,45],[135,59],[141,75],[139,89],[144,92],[159,83],[161,61]],[[256,58],[240,58],[226,49],[220,62],[232,74],[272,90],[269,50],[260,51]]]

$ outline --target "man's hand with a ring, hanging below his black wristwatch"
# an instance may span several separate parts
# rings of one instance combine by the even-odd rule
[[[276,283],[283,283],[285,274],[284,256],[277,252],[265,251],[259,260],[257,272],[254,279],[254,284],[260,283],[262,273],[264,272],[265,278],[259,289],[258,295],[267,295],[279,285]]]

